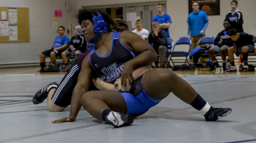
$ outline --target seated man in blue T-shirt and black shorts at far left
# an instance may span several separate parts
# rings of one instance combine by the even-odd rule
[[[65,28],[60,26],[58,28],[58,34],[59,36],[55,37],[54,44],[49,50],[45,50],[42,53],[39,54],[40,58],[40,66],[41,69],[39,69],[39,72],[45,72],[45,58],[50,57],[51,64],[56,64],[56,57],[61,56],[61,53],[68,47],[69,44],[69,38],[64,35]]]

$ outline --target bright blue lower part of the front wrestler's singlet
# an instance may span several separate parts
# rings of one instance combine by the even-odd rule
[[[126,92],[123,92],[120,94],[125,99],[128,114],[144,113],[149,108],[155,106],[161,101],[161,100],[155,100],[150,96],[148,96],[143,88],[142,88],[142,92],[136,96]]]

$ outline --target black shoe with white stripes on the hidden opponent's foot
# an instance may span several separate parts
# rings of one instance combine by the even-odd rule
[[[51,82],[41,90],[39,90],[33,97],[32,102],[34,104],[39,104],[42,103],[48,96],[48,93],[52,87],[57,88],[58,83],[56,82]]]

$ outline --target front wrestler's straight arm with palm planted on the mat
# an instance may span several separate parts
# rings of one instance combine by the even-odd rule
[[[52,121],[52,123],[61,123],[61,122],[76,120],[77,114],[82,107],[80,102],[81,97],[85,92],[88,91],[91,80],[92,80],[92,70],[89,63],[89,56],[87,55],[83,60],[81,71],[78,75],[78,81],[72,93],[69,116],[59,120]]]

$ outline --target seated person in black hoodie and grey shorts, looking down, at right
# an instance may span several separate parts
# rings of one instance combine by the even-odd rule
[[[220,53],[222,58],[223,71],[226,71],[226,53],[228,52],[229,47],[233,46],[233,41],[229,36],[231,21],[224,20],[223,26],[225,29],[217,35],[214,40],[214,46],[209,49],[209,57],[211,58],[213,64],[210,67],[210,71],[215,70],[215,68],[219,66],[214,56],[215,53]]]

